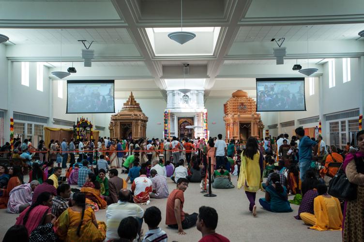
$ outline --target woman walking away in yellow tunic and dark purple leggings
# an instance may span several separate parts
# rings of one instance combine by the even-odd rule
[[[263,156],[258,151],[256,138],[248,138],[241,158],[242,165],[240,166],[238,189],[244,188],[246,197],[249,199],[249,211],[253,213],[253,216],[256,216],[255,197],[257,191],[262,188],[261,183],[263,181]]]

